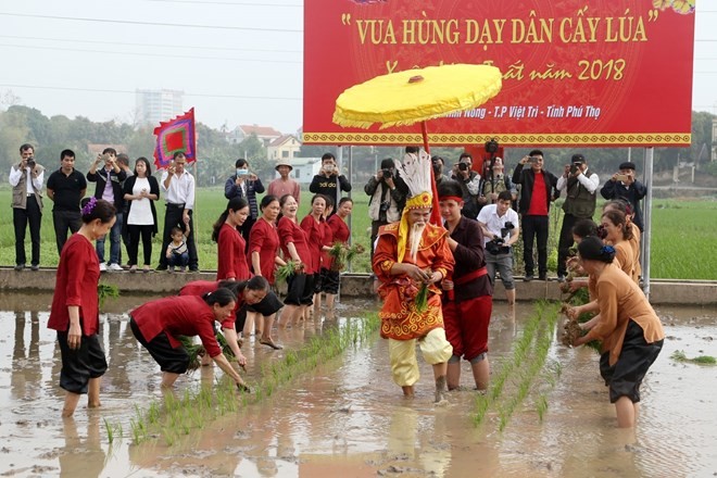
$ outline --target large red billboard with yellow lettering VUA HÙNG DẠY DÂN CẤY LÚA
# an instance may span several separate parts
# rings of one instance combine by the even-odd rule
[[[657,5],[657,7],[655,7]],[[503,89],[428,123],[431,144],[689,146],[694,1],[304,0],[305,143],[417,144],[343,128],[337,97],[378,75],[489,63]]]

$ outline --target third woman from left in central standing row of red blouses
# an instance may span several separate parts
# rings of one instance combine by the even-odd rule
[[[285,194],[279,200],[281,206],[281,218],[277,227],[281,241],[281,251],[285,260],[292,260],[297,265],[294,273],[287,279],[287,297],[284,299],[286,310],[281,320],[281,327],[291,326],[299,322],[314,293],[314,286],[307,280],[304,267],[311,261],[309,252],[309,238],[306,232],[297,224],[297,210],[299,204],[291,194]]]

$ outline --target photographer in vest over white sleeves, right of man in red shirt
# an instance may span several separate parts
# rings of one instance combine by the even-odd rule
[[[580,219],[591,219],[595,213],[595,199],[600,186],[598,175],[588,174],[588,162],[582,154],[574,154],[570,164],[565,166],[563,176],[557,179],[557,190],[567,190],[563,203],[563,227],[557,244],[557,281],[564,282],[567,276],[567,257],[573,247],[573,226]]]

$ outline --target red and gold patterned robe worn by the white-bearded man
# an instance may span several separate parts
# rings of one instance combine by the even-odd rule
[[[415,310],[414,299],[420,284],[415,284],[406,275],[390,275],[391,267],[398,260],[398,236],[399,223],[382,226],[378,230],[378,242],[374,251],[374,273],[382,282],[378,289],[383,299],[383,306],[378,313],[381,318],[381,337],[395,340],[417,339],[435,328],[443,327],[441,291],[431,284],[428,288],[427,310],[423,313]],[[438,271],[445,277],[455,264],[446,237],[448,231],[444,228],[428,224],[418,246],[416,262],[411,257],[411,246],[406,244],[403,263]]]

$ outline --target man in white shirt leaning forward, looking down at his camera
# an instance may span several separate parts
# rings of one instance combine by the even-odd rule
[[[495,271],[501,274],[508,305],[515,304],[513,280],[513,244],[518,241],[520,228],[518,213],[511,209],[511,191],[501,191],[495,204],[488,204],[478,214],[478,224],[483,230],[486,243],[486,267],[491,284],[495,285]]]

